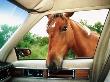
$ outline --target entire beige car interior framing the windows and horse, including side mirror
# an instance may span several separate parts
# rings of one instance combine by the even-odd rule
[[[28,13],[26,20],[0,49],[0,82],[110,82],[110,0],[7,0]],[[29,48],[16,45],[44,16],[108,9],[94,58],[63,60],[62,70],[49,71],[46,60],[19,60]],[[37,27],[39,28],[39,27]],[[37,53],[37,52],[36,52]]]

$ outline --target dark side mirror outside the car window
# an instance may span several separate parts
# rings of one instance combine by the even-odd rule
[[[18,58],[19,56],[25,57],[31,55],[31,50],[27,48],[15,48],[15,52]]]

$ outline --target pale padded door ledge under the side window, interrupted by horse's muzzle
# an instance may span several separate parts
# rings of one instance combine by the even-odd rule
[[[92,69],[93,59],[64,60],[63,69]],[[13,62],[15,68],[47,69],[46,60],[20,60]]]

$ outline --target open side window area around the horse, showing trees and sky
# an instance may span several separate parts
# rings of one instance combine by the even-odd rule
[[[101,36],[108,11],[109,9],[79,11],[75,12],[70,18]],[[47,58],[49,44],[47,23],[48,18],[44,16],[18,43],[17,48],[29,48],[32,52],[30,56],[20,56],[19,59]],[[75,53],[70,49],[65,58],[74,59]]]

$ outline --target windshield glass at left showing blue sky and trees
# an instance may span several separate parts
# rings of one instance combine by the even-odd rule
[[[0,48],[24,22],[28,13],[7,0],[0,0]]]

